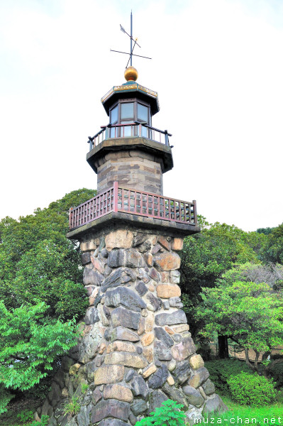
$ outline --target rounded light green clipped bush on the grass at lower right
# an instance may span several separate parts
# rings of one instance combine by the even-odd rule
[[[267,405],[276,398],[273,381],[256,373],[242,372],[227,383],[232,398],[241,405]]]

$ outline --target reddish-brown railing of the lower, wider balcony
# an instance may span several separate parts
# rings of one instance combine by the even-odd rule
[[[195,200],[192,202],[174,200],[174,198],[150,192],[118,187],[118,182],[114,182],[109,190],[78,207],[71,207],[70,230],[88,224],[110,212],[138,214],[138,216],[197,226]]]

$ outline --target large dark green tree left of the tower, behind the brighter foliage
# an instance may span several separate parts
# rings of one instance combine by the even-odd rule
[[[45,302],[51,317],[71,319],[87,307],[77,241],[66,238],[70,207],[94,196],[77,190],[48,208],[0,222],[0,299],[7,309]]]

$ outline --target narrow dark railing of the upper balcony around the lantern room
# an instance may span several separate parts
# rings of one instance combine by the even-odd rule
[[[92,138],[89,136],[89,151],[94,146],[99,145],[102,141],[110,138],[128,138],[128,137],[143,137],[148,138],[151,141],[163,143],[166,146],[169,145],[168,136],[172,136],[167,130],[155,129],[155,127],[148,126],[143,123],[129,123],[129,124],[108,124],[107,126],[101,126],[101,130],[96,133]]]

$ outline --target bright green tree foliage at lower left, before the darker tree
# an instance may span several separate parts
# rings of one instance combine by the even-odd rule
[[[75,320],[62,322],[47,312],[44,302],[11,310],[0,302],[0,383],[6,388],[32,388],[77,344]]]

